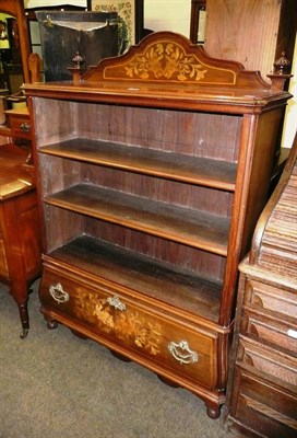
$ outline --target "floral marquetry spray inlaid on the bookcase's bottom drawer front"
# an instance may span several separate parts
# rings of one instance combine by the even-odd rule
[[[162,326],[134,309],[119,310],[110,306],[108,298],[97,299],[81,290],[75,296],[74,312],[80,320],[97,326],[104,333],[116,336],[128,345],[145,349],[151,355],[161,353]]]

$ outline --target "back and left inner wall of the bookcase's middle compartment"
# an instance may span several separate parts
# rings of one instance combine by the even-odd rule
[[[110,168],[39,154],[44,196],[74,186],[90,184],[174,204],[221,217],[230,217],[233,193],[188,183],[141,175]]]

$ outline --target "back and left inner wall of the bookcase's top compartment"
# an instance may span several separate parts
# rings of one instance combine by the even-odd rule
[[[37,101],[36,112],[38,148],[82,137],[230,162],[238,158],[241,116],[46,99]]]

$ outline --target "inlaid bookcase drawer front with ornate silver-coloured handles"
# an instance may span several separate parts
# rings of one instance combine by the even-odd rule
[[[91,283],[49,267],[44,269],[40,301],[55,312],[57,321],[59,315],[62,322],[69,319],[68,323],[78,324],[78,331],[81,326],[86,335],[110,348],[120,346],[151,368],[167,369],[209,389],[215,387],[217,341],[213,333],[181,324],[109,284]]]

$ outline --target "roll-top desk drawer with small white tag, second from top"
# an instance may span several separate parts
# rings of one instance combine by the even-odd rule
[[[241,333],[252,335],[276,349],[285,348],[297,356],[297,321],[294,319],[280,320],[246,309],[241,319]]]

